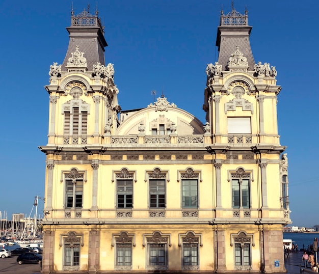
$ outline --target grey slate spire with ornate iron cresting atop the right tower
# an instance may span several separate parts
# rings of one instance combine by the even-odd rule
[[[248,25],[248,11],[245,14],[237,12],[234,2],[231,3],[232,11],[228,14],[221,13],[221,22],[218,27],[216,45],[218,46],[218,63],[223,70],[228,70],[229,58],[239,47],[243,56],[247,58],[248,70],[254,70],[255,61],[250,47],[249,36],[252,27]]]

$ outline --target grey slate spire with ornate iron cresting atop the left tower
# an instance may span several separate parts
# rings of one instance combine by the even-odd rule
[[[70,34],[70,41],[62,64],[62,70],[64,71],[76,47],[85,54],[87,70],[91,71],[93,65],[97,62],[101,65],[105,65],[104,47],[108,46],[108,44],[104,38],[104,28],[100,18],[97,16],[98,12],[96,11],[95,14],[92,15],[89,13],[89,9],[90,6],[88,5],[88,11],[84,9],[83,12],[74,15],[72,6],[71,26],[67,28]]]

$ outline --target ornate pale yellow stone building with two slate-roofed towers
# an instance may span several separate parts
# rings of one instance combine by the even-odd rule
[[[122,111],[97,12],[71,19],[45,87],[42,272],[283,272],[281,88],[275,67],[255,64],[247,12],[221,14],[205,125],[164,96]]]

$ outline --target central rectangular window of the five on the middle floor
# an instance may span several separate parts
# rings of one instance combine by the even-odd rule
[[[149,180],[151,208],[165,208],[165,180]]]

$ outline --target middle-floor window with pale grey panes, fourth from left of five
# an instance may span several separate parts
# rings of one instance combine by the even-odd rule
[[[182,207],[198,208],[197,180],[182,180]]]

